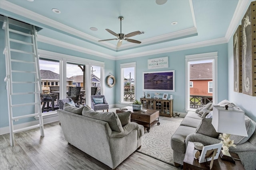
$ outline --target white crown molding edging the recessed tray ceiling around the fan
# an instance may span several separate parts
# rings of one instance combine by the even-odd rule
[[[23,7],[18,6],[16,4],[12,4],[11,2],[8,2],[7,0],[0,0],[0,6],[1,6],[2,9],[7,10],[9,12],[12,12],[14,14],[29,18],[31,20],[40,22],[40,23],[45,24],[45,25],[50,25],[51,27],[53,27],[55,29],[58,29],[60,31],[64,31],[66,33],[69,33],[69,34],[74,35],[76,37],[80,37],[80,38],[85,39],[87,41],[91,41],[91,42],[96,43],[98,45],[103,45],[104,47],[112,49],[114,51],[130,49],[130,48],[133,48],[133,47],[138,47],[138,46],[141,46],[141,45],[147,45],[147,44],[151,44],[151,43],[158,43],[158,42],[161,42],[161,41],[166,41],[166,40],[169,40],[169,39],[184,37],[186,35],[192,35],[194,33],[197,33],[196,27],[192,27],[192,28],[176,31],[174,33],[168,33],[168,34],[160,35],[160,36],[149,38],[149,39],[143,39],[143,40],[141,40],[143,42],[141,45],[134,44],[134,43],[128,43],[128,44],[122,45],[122,47],[117,49],[116,45],[113,45],[113,44],[108,43],[108,42],[98,42],[100,39],[98,39],[96,37],[93,37],[93,36],[88,35],[88,34],[82,32],[82,31],[79,31],[77,29],[74,29],[72,27],[64,25],[60,22],[57,22],[55,20],[52,20],[52,19],[47,18],[45,16],[42,16],[40,14],[37,14],[36,12],[32,12],[30,10],[27,10],[26,8],[23,8]],[[194,26],[196,26],[195,25],[196,23],[195,23],[194,11],[193,11],[193,8],[192,8],[192,2],[190,2],[190,8],[192,10],[193,23],[194,23]]]

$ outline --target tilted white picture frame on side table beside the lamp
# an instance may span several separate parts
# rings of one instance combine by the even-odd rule
[[[206,161],[211,161],[212,156],[210,156],[210,157],[207,157],[207,156],[209,155],[209,153],[212,153],[214,150],[216,152],[216,154],[214,155],[214,159],[218,159],[221,147],[222,147],[222,143],[217,143],[217,144],[214,144],[214,145],[204,146],[203,149],[202,149],[202,153],[200,155],[200,158],[199,158],[199,163],[203,163],[203,162],[206,162]]]

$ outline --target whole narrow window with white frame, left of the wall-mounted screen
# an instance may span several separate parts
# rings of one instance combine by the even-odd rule
[[[122,103],[131,103],[136,98],[136,63],[121,64],[121,100]]]

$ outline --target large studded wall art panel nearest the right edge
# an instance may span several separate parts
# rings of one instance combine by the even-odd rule
[[[256,1],[242,18],[242,92],[256,96]]]

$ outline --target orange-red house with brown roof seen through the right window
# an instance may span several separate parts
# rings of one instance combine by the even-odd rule
[[[212,63],[190,64],[190,95],[212,96]]]

